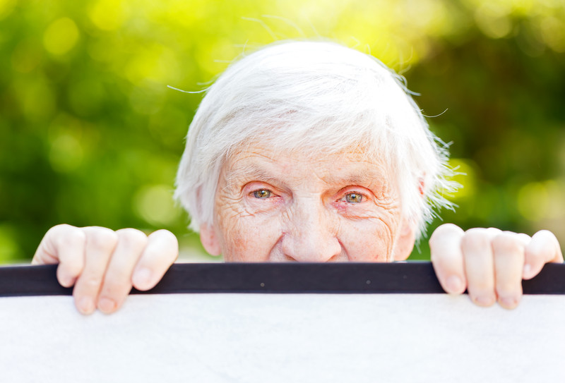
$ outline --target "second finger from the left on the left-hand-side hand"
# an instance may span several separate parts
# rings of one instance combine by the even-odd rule
[[[96,308],[96,301],[108,261],[117,245],[117,234],[103,227],[85,227],[86,236],[84,269],[78,277],[73,296],[78,311],[90,314]]]

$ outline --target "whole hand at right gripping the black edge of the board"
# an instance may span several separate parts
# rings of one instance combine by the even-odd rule
[[[542,230],[533,236],[499,229],[463,231],[453,224],[439,226],[429,239],[432,264],[447,293],[468,290],[480,306],[498,301],[516,308],[522,279],[536,276],[548,262],[564,262],[557,238]]]

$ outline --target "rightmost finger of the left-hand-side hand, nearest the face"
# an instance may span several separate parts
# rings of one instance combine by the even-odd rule
[[[148,236],[148,244],[133,271],[131,281],[138,290],[153,288],[179,257],[177,237],[167,230],[155,231]]]

